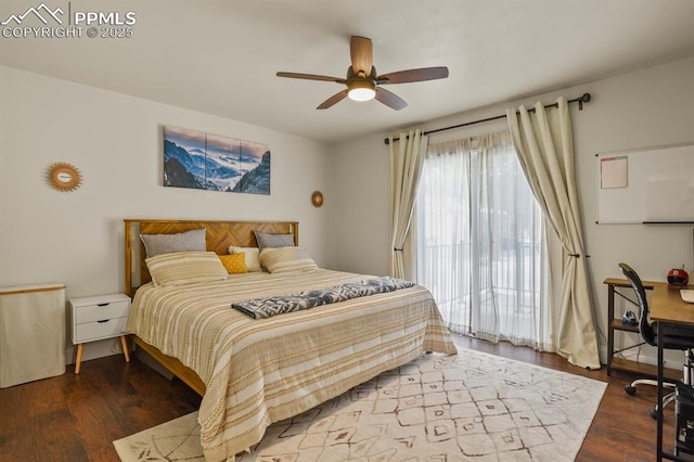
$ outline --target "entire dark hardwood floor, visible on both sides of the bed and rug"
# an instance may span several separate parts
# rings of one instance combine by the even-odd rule
[[[492,345],[455,336],[464,348],[584,375],[608,384],[577,461],[654,461],[656,423],[648,416],[654,387],[628,396],[629,375],[607,376],[553,354],[510,344]],[[79,375],[63,375],[0,389],[0,461],[118,461],[116,439],[196,410],[201,398],[178,380],[169,381],[133,358],[123,356],[82,363]],[[671,448],[673,408],[665,415],[666,447]],[[668,431],[669,429],[669,431]],[[668,446],[669,445],[669,446]]]

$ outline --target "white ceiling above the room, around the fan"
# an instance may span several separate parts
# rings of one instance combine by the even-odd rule
[[[41,1],[3,0],[0,22]],[[132,11],[133,37],[0,37],[0,64],[329,142],[694,56],[694,0],[43,1]],[[396,112],[317,111],[344,87],[275,76],[344,77],[352,35],[373,40],[378,74],[450,77],[388,86],[409,103]]]

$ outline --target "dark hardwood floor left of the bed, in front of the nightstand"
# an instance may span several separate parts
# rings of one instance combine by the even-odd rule
[[[0,389],[0,461],[119,461],[113,441],[200,407],[200,396],[137,358],[86,361]]]

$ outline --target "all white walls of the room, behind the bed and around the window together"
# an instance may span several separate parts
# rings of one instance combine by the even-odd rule
[[[619,277],[619,261],[646,280],[664,280],[668,269],[682,264],[692,270],[694,226],[595,224],[594,155],[694,143],[694,60],[457,114],[424,129],[586,91],[593,101],[582,112],[571,106],[577,180],[596,321],[606,333],[602,281]],[[320,266],[388,271],[385,134],[330,146],[2,66],[0,103],[0,286],[64,282],[68,298],[120,292],[124,218],[298,220],[301,245]],[[268,144],[272,194],[163,188],[163,125]],[[503,128],[503,120],[476,125],[433,134],[430,141]],[[50,189],[44,169],[54,162],[75,164],[85,177],[82,187],[72,193]],[[314,190],[325,195],[321,208],[310,204]],[[604,337],[600,342],[604,345]],[[85,359],[90,355],[88,347]]]

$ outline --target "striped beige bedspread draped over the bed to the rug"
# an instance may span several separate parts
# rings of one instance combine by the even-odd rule
[[[455,354],[430,293],[421,286],[252,319],[231,304],[363,279],[314,270],[246,273],[180,287],[145,284],[127,330],[195,371],[206,460],[242,452],[272,423],[338,396],[423,351]]]

